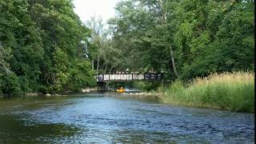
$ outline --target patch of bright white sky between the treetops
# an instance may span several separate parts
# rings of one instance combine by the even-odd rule
[[[120,0],[74,0],[74,12],[86,23],[94,15],[102,16],[103,22],[114,17],[114,6]]]

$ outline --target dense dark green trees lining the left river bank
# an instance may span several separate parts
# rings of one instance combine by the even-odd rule
[[[0,95],[55,93],[95,84],[90,30],[70,0],[0,1]]]

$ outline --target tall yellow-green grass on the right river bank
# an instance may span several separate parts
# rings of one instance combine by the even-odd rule
[[[186,106],[254,112],[254,73],[213,74],[160,87],[161,101]]]

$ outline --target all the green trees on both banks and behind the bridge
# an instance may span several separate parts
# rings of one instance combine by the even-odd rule
[[[0,1],[0,95],[79,90],[95,85],[94,71],[154,70],[170,84],[254,70],[253,0],[124,0],[108,29],[101,18],[86,28],[73,8],[72,0]]]

